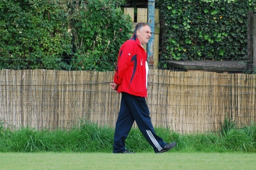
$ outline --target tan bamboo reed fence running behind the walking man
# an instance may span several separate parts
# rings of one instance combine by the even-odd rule
[[[71,128],[80,120],[114,127],[121,94],[114,72],[0,70],[3,127]],[[256,121],[256,75],[150,70],[146,98],[154,127],[218,131],[225,118]],[[136,123],[134,123],[136,127]]]

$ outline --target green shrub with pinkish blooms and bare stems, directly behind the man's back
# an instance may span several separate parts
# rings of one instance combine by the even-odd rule
[[[120,46],[131,38],[131,18],[118,6],[123,3],[124,0],[93,0],[81,1],[74,7],[73,68],[113,71]]]

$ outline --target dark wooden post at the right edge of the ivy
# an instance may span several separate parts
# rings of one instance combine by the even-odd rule
[[[250,70],[253,59],[253,11],[248,11],[247,17],[247,70]]]

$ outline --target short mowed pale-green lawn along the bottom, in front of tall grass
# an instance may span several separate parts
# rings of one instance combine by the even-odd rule
[[[256,170],[256,153],[0,153],[0,170]]]

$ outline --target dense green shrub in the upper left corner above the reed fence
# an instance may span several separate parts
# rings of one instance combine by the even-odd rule
[[[61,70],[71,54],[67,4],[59,0],[0,1],[0,68]]]

